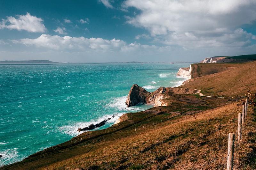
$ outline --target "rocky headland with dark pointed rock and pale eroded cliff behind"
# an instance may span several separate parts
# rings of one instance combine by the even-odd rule
[[[138,85],[133,85],[125,104],[127,107],[135,106],[138,103],[150,103],[156,106],[168,106],[168,95],[171,94],[195,94],[196,89],[178,88],[178,87],[160,87],[154,92],[148,92]]]

